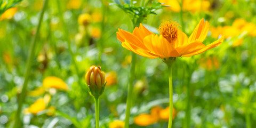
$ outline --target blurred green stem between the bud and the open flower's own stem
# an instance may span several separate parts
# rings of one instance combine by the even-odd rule
[[[128,86],[127,100],[126,100],[125,128],[129,127],[129,118],[130,118],[130,109],[132,106],[132,92],[133,92],[133,81],[134,81],[136,58],[137,58],[137,55],[132,52],[132,65],[131,65],[131,70],[130,70],[130,81],[129,81],[129,86]]]

